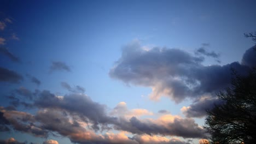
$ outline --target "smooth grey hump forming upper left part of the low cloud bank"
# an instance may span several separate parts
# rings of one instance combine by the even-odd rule
[[[106,114],[106,105],[95,103],[85,94],[69,94],[65,97],[57,98],[49,91],[39,94],[39,99],[34,103],[38,107],[64,109],[68,112],[77,113],[84,118],[84,121],[94,123],[95,130],[100,130],[98,124],[114,121],[114,117]]]

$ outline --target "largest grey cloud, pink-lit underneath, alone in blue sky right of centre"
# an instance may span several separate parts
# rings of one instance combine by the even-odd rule
[[[151,87],[150,98],[167,96],[176,103],[185,98],[213,95],[230,86],[231,68],[246,74],[247,65],[203,65],[203,58],[179,49],[154,47],[144,50],[138,41],[123,48],[109,76],[128,85]]]

